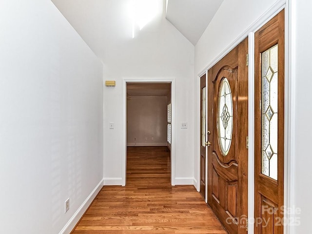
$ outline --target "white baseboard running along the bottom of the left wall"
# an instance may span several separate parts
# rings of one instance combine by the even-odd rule
[[[101,181],[99,181],[98,185],[94,188],[94,190],[91,192],[91,194],[84,200],[84,202],[81,204],[81,206],[75,212],[75,214],[69,219],[69,221],[63,227],[63,229],[59,232],[59,234],[70,234],[71,233],[71,231],[75,228],[76,224],[78,223],[79,219],[86,212],[86,210],[90,206],[91,202],[94,200],[94,198],[98,195],[99,191],[102,189],[103,180],[104,179],[101,179]]]

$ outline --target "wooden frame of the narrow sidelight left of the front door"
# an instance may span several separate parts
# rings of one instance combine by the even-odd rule
[[[203,132],[203,114],[206,115],[206,106],[203,106],[203,89],[206,87],[206,74],[200,78],[200,188],[199,192],[206,199],[206,147],[203,146],[202,132]],[[205,92],[206,96],[206,92]],[[207,98],[206,98],[207,99]],[[206,120],[205,120],[206,123]],[[206,124],[205,124],[206,125]],[[205,126],[206,134],[206,126]],[[204,140],[204,142],[206,139]]]

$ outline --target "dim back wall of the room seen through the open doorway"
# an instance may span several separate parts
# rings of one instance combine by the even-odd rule
[[[127,100],[128,146],[167,145],[167,103],[167,96],[133,96]]]

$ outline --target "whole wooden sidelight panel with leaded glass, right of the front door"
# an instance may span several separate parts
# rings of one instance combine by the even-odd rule
[[[284,10],[260,28],[254,39],[254,233],[282,234]]]

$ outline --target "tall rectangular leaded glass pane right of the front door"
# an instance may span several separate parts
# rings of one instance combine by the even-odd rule
[[[278,45],[262,53],[261,172],[277,180],[277,51]]]

